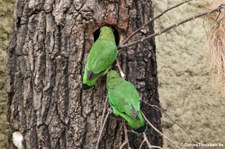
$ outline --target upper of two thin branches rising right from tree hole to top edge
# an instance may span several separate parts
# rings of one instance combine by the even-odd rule
[[[185,3],[188,3],[192,0],[186,0],[184,2],[181,2],[177,5],[174,5],[168,9],[166,9],[165,11],[163,11],[162,13],[158,14],[156,17],[154,17],[153,19],[150,19],[147,23],[145,23],[144,25],[142,25],[140,28],[138,28],[136,31],[134,31],[130,36],[128,36],[123,42],[122,42],[122,45],[124,45],[131,37],[133,37],[135,34],[137,34],[141,29],[143,29],[146,25],[148,25],[149,23],[153,22],[154,20],[158,19],[159,17],[161,17],[162,15],[164,15],[165,13],[167,13],[168,11],[174,9],[174,8],[177,8],[179,7],[180,5],[183,5]]]

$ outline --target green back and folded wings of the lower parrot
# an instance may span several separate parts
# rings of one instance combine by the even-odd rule
[[[119,85],[108,90],[108,97],[116,115],[125,113],[136,119],[137,111],[140,110],[140,99],[133,84],[122,80]]]

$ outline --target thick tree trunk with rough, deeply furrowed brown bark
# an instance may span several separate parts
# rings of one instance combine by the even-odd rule
[[[8,122],[24,136],[24,149],[95,147],[106,98],[105,77],[90,91],[81,89],[83,69],[93,32],[114,26],[121,40],[152,17],[151,0],[19,0],[8,48]],[[150,24],[139,34],[153,32]],[[120,50],[126,79],[142,99],[159,106],[154,40]],[[160,129],[159,111],[142,104],[148,119]],[[142,135],[128,132],[137,148]],[[162,138],[151,128],[154,145]],[[119,148],[124,142],[122,119],[111,114],[100,148]]]

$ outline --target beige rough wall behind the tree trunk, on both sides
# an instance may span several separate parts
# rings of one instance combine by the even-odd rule
[[[153,0],[155,15],[181,0]],[[210,8],[213,0],[194,0],[155,21],[155,32]],[[0,0],[0,148],[7,148],[6,48],[12,26],[12,0]],[[206,39],[215,22],[200,18],[156,37],[159,95],[162,108],[196,143],[225,146],[225,93],[216,94],[209,73]],[[187,133],[162,118],[163,132],[177,144],[191,143]],[[174,148],[164,140],[164,148]],[[184,146],[183,146],[184,147]],[[185,148],[185,147],[184,147]]]

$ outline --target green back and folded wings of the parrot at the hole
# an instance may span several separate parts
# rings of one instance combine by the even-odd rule
[[[109,69],[117,56],[117,47],[114,42],[98,39],[88,55],[86,70],[99,74]]]

